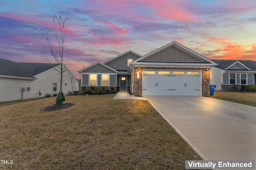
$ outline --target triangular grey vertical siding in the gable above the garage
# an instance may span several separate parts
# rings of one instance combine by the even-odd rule
[[[184,51],[171,46],[158,53],[151,55],[142,61],[161,61],[161,62],[203,62]]]

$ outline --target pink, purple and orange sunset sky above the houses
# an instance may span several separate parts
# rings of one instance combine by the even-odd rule
[[[69,15],[64,63],[76,78],[83,66],[172,41],[209,59],[256,61],[255,0],[0,0],[0,58],[44,63],[53,7]]]

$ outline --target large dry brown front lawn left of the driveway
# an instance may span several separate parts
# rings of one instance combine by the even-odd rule
[[[185,169],[198,154],[144,100],[65,96],[0,107],[0,169]],[[200,159],[200,158],[199,158]]]

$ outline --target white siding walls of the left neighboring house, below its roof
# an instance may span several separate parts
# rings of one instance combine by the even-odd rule
[[[22,87],[26,88],[23,92],[23,99],[38,98],[39,91],[42,93],[42,96],[40,97],[45,97],[46,93],[54,94],[60,91],[60,74],[58,74],[53,68],[37,74],[34,77],[37,78],[37,80],[0,78],[0,102],[22,100]],[[57,83],[56,92],[53,92],[54,82]],[[65,86],[65,84],[67,84],[67,86]],[[28,91],[28,87],[31,88],[30,91]],[[75,83],[75,90],[78,90],[78,81]],[[64,75],[62,81],[62,92],[63,94],[68,94],[68,91],[72,91],[72,85],[69,76]]]

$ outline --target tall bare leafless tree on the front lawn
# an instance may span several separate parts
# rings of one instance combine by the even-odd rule
[[[60,74],[60,92],[62,92],[62,78],[63,73],[68,70],[68,67],[63,64],[64,57],[64,49],[66,47],[65,38],[66,38],[66,27],[68,25],[68,14],[61,11],[59,8],[57,14],[55,13],[54,8],[52,8],[53,12],[53,23],[54,23],[54,31],[47,31],[44,33],[44,37],[47,41],[46,45],[43,48],[44,51],[44,59],[47,63],[49,63],[52,68],[54,68],[58,74]],[[50,56],[49,56],[50,54]],[[54,59],[58,66],[51,63],[51,59]]]

